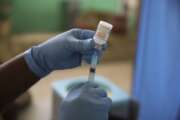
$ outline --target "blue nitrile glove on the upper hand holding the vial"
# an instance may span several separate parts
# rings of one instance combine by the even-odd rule
[[[74,68],[81,65],[82,59],[90,63],[96,50],[94,31],[72,29],[59,34],[45,43],[34,46],[25,52],[29,68],[39,77],[44,77],[53,70]]]

